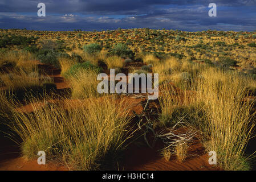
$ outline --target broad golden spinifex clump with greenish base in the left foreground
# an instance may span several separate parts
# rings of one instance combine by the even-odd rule
[[[49,105],[34,113],[14,112],[12,128],[22,139],[22,154],[59,160],[71,169],[102,169],[113,164],[129,138],[129,105],[114,97]],[[103,166],[104,164],[104,166]],[[108,169],[109,169],[108,166]]]

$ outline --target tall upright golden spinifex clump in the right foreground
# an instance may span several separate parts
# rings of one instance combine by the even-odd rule
[[[255,111],[253,103],[244,98],[246,86],[255,81],[214,68],[202,72],[202,76],[198,89],[205,104],[206,149],[217,152],[217,162],[224,169],[249,169],[245,147],[253,136]]]

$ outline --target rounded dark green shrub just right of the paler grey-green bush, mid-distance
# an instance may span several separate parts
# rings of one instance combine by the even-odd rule
[[[125,44],[116,44],[116,46],[114,46],[111,51],[109,52],[110,55],[117,55],[120,57],[129,57],[131,59],[133,59],[134,57],[134,53],[132,52],[131,49],[129,49]]]

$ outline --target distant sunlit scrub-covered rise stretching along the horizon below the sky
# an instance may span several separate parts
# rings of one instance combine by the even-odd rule
[[[1,33],[0,39],[7,37],[9,39],[12,35],[23,36],[26,39],[34,36],[35,40],[33,40],[33,42],[28,41],[26,45],[29,46],[27,49],[32,52],[36,51],[35,46],[42,49],[47,47],[47,49],[51,49],[52,43],[47,43],[47,41],[55,42],[54,48],[60,50],[66,49],[66,51],[74,51],[76,48],[81,48],[81,45],[99,44],[104,51],[109,52],[112,49],[112,42],[117,42],[124,45],[127,44],[127,47],[135,53],[135,56],[143,51],[156,54],[157,56],[168,54],[176,56],[178,59],[186,58],[191,61],[209,60],[215,64],[216,61],[218,62],[220,55],[225,55],[236,60],[239,67],[245,64],[252,64],[252,66],[255,67],[253,61],[255,57],[253,46],[255,42],[255,32],[224,32],[213,30],[185,32],[178,30],[156,31],[136,28],[121,30],[121,32],[119,30],[95,32],[79,31],[79,33],[76,31],[60,31],[54,32],[53,34],[51,31],[1,30]],[[77,36],[78,34],[82,35],[80,39]],[[117,36],[117,34],[119,34],[119,36]],[[44,40],[46,37],[47,40]],[[186,41],[184,42],[182,39],[186,39]],[[225,44],[223,42],[225,42]],[[46,46],[43,46],[43,44],[46,44]],[[249,46],[247,44],[249,44]],[[21,45],[6,44],[6,46],[2,48],[17,49],[17,46],[19,47]],[[66,46],[66,48],[64,46]],[[54,52],[56,51],[54,50]],[[238,69],[238,71],[243,72],[243,70],[240,69]]]

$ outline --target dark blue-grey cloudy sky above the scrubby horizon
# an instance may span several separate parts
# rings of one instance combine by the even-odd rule
[[[38,3],[46,5],[45,17],[38,16]],[[217,16],[208,15],[209,3]],[[0,0],[0,28],[256,31],[256,0]]]

